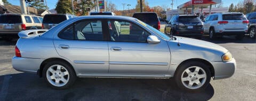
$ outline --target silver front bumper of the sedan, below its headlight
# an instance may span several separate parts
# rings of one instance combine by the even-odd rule
[[[214,80],[225,79],[234,75],[236,70],[236,60],[233,58],[229,62],[211,62],[214,68]]]

